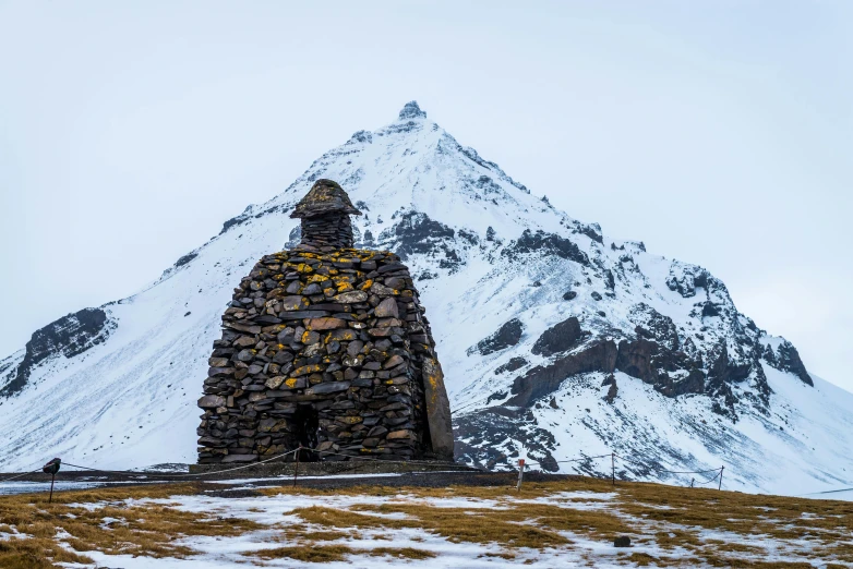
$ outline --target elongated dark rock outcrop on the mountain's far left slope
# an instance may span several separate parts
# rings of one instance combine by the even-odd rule
[[[9,383],[0,390],[0,397],[21,391],[33,370],[41,362],[56,355],[73,358],[104,342],[115,329],[100,308],[84,308],[63,316],[36,330],[26,342],[24,359],[17,368],[7,375]]]

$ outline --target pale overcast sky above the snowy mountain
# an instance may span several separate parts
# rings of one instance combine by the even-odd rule
[[[525,4],[0,0],[0,354],[417,99],[853,390],[853,2]]]

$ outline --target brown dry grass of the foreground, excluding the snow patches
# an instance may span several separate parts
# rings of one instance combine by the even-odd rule
[[[183,557],[193,552],[178,540],[190,536],[237,536],[260,529],[277,532],[273,538],[286,545],[253,552],[255,559],[291,558],[329,562],[349,555],[383,555],[401,559],[423,559],[431,552],[415,547],[353,548],[348,538],[382,538],[395,530],[416,529],[454,543],[495,544],[504,547],[488,556],[514,558],[518,548],[540,552],[576,547],[572,535],[612,544],[617,535],[629,535],[635,544],[653,544],[662,553],[650,556],[639,552],[618,552],[615,560],[624,565],[656,567],[744,567],[779,569],[810,567],[809,560],[844,567],[853,562],[851,528],[853,504],[832,500],[805,500],[780,496],[758,496],[702,488],[684,488],[645,483],[610,483],[576,477],[567,481],[525,484],[520,493],[509,486],[452,486],[447,488],[389,488],[362,486],[336,489],[263,488],[261,494],[301,494],[323,496],[379,496],[383,504],[357,504],[345,509],[314,506],[299,508],[292,514],[297,524],[264,526],[249,520],[218,519],[212,514],[183,512],[168,504],[132,504],[127,498],[168,498],[197,494],[195,484],[125,486],[59,493],[55,504],[44,495],[0,497],[0,531],[26,534],[26,537],[0,541],[0,567],[41,569],[58,562],[91,562],[82,554],[60,547],[57,533],[71,537],[65,543],[76,552],[98,550],[146,557]],[[615,492],[602,508],[572,509],[560,492]],[[397,499],[401,496],[403,499]],[[468,497],[495,500],[506,509],[438,508],[424,498]],[[550,497],[548,501],[518,504],[517,499]],[[322,501],[322,500],[321,500]],[[565,504],[560,504],[561,501]],[[593,501],[594,500],[590,500]],[[97,503],[95,511],[72,506]],[[566,507],[561,507],[566,506]],[[263,509],[263,508],[261,508]],[[803,514],[807,516],[804,517]],[[388,518],[386,514],[397,514]],[[115,518],[105,524],[105,518]],[[735,540],[708,540],[707,530],[731,532]],[[420,538],[420,537],[418,537]],[[766,562],[764,543],[807,538],[812,552],[793,545],[789,561]],[[340,543],[343,542],[343,543]],[[686,553],[685,553],[686,552]],[[578,552],[584,553],[584,552]],[[810,556],[810,557],[809,557]],[[592,566],[594,558],[584,555]],[[834,565],[833,565],[834,564]]]

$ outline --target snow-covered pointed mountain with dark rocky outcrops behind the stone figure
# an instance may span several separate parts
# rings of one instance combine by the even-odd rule
[[[324,154],[140,293],[60,318],[0,361],[0,470],[53,456],[101,468],[195,459],[195,402],[232,288],[298,242],[314,180],[364,215],[361,246],[398,253],[428,308],[458,459],[520,456],[620,475],[724,464],[725,485],[818,492],[853,482],[853,395],[735,307],[706,269],[608,239],[461,146],[415,102]],[[698,479],[698,476],[697,476]]]

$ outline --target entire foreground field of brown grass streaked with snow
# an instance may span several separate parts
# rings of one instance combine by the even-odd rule
[[[851,567],[853,504],[594,479],[0,497],[0,567]],[[613,540],[627,535],[630,548]],[[202,565],[199,565],[199,564]]]

